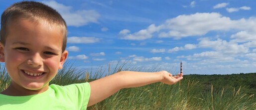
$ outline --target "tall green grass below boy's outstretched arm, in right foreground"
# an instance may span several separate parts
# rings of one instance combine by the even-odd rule
[[[123,89],[88,110],[256,110],[254,95],[236,88],[203,93],[197,84],[184,80],[172,86],[155,83]]]

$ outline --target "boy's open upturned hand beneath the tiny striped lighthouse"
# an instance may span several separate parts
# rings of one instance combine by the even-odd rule
[[[172,76],[172,74],[168,73],[167,71],[160,71],[163,75],[162,83],[167,85],[172,85],[183,79],[183,74],[177,74],[175,76]]]

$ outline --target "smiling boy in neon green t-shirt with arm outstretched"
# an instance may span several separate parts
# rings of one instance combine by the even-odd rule
[[[183,74],[122,71],[90,83],[49,85],[67,59],[67,26],[51,7],[12,4],[1,15],[0,61],[11,78],[0,93],[0,110],[86,110],[122,88],[155,82],[172,85]]]

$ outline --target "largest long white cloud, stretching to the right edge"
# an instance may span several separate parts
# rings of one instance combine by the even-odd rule
[[[175,18],[167,19],[164,24],[155,26],[151,24],[147,29],[130,33],[128,29],[120,31],[122,39],[127,40],[145,40],[153,37],[154,33],[158,33],[160,38],[180,39],[182,37],[202,36],[209,31],[229,31],[251,30],[256,33],[256,18],[241,18],[231,20],[230,17],[222,16],[220,13],[195,13],[190,15],[179,15]],[[161,43],[159,41],[157,43]]]

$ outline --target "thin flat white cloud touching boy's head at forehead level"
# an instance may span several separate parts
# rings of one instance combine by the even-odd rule
[[[68,41],[67,43],[97,43],[99,42],[101,39],[100,38],[96,38],[96,37],[68,37]]]

